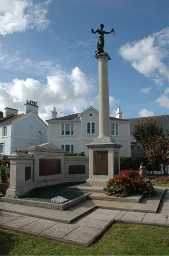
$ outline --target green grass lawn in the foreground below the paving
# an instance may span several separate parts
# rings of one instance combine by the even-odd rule
[[[0,229],[0,255],[168,255],[168,228],[113,224],[90,247]]]

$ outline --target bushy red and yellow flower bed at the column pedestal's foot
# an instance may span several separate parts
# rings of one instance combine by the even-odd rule
[[[114,179],[109,179],[104,188],[107,195],[126,197],[133,194],[145,194],[146,197],[155,195],[153,184],[132,169],[119,173]]]

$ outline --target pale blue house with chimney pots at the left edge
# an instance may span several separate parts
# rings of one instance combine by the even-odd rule
[[[35,101],[26,101],[24,113],[5,108],[0,112],[0,154],[11,155],[17,148],[25,149],[47,141],[48,125],[38,116]]]

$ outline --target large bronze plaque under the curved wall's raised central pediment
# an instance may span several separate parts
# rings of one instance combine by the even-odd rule
[[[39,159],[39,176],[61,173],[61,159]]]

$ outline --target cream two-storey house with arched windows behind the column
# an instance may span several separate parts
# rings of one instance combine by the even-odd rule
[[[110,117],[110,134],[116,142],[123,145],[120,156],[131,156],[130,150],[130,121],[122,119],[122,112],[118,108],[116,116]],[[99,113],[92,106],[81,113],[57,118],[56,108],[52,110],[49,124],[48,141],[66,152],[84,152],[89,156],[86,146],[98,137]]]

